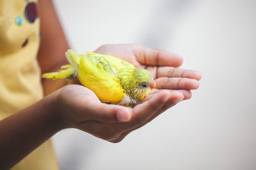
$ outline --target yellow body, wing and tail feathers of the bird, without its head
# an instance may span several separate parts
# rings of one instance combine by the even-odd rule
[[[100,101],[108,103],[119,103],[121,101],[121,103],[124,103],[125,100],[122,99],[126,99],[126,94],[117,73],[120,73],[121,69],[122,73],[124,73],[124,70],[131,71],[135,67],[129,62],[111,55],[86,53],[87,55],[84,55],[76,53],[74,50],[68,50],[65,55],[71,65],[62,66],[61,69],[63,70],[59,72],[45,73],[42,77],[53,80],[70,76],[78,77],[81,84],[92,90]],[[143,98],[147,94],[142,94],[141,97]],[[131,101],[127,103],[129,104]]]

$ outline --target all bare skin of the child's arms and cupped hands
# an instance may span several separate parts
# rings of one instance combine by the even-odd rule
[[[42,73],[66,64],[68,43],[52,2],[39,2],[41,32],[38,52]],[[134,108],[101,103],[92,90],[67,85],[67,80],[43,80],[42,100],[0,121],[0,169],[9,169],[56,132],[76,128],[117,143],[175,104],[190,99],[201,74],[181,69],[182,57],[141,45],[103,45],[97,53],[120,57],[136,67],[148,69],[156,89]],[[51,61],[51,62],[49,62]],[[64,87],[63,87],[64,86]]]

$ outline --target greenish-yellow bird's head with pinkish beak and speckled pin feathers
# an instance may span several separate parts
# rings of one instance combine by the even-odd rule
[[[125,71],[125,73],[127,72]],[[131,73],[121,78],[121,84],[125,93],[136,101],[148,96],[150,90],[156,88],[154,78],[147,69],[133,69]]]

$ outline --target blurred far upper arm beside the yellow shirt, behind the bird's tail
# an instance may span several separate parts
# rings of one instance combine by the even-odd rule
[[[58,71],[61,66],[68,64],[65,52],[69,46],[58,15],[51,0],[38,1],[40,17],[40,32],[42,39],[38,51],[38,62],[42,73]],[[67,80],[42,80],[45,95],[67,85]]]

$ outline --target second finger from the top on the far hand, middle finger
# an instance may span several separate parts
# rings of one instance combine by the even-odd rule
[[[202,74],[199,71],[191,69],[182,69],[175,67],[158,67],[157,78],[160,77],[182,77],[182,78],[193,78],[195,80],[200,80]]]

